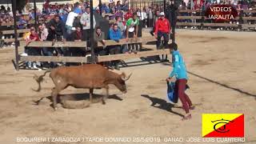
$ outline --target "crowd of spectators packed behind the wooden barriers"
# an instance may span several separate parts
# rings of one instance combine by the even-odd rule
[[[196,0],[194,2],[184,0],[178,5],[178,9],[202,9],[205,10],[207,6],[211,3],[220,3],[220,4],[232,4],[238,9],[251,10],[254,8],[254,2],[247,1],[201,1]],[[99,6],[94,9],[94,12],[100,14]],[[103,3],[102,4],[102,17],[106,20],[110,20],[110,30],[105,34],[100,26],[96,27],[96,20],[94,20],[94,41],[102,42],[102,47],[95,49],[97,55],[106,55],[106,54],[120,54],[120,53],[137,53],[141,45],[124,45],[124,46],[104,46],[106,39],[111,39],[118,42],[121,38],[136,38],[139,36],[138,27],[155,27],[155,25],[161,25],[157,22],[160,18],[163,22],[167,21],[163,19],[163,5],[152,4],[151,6],[145,6],[142,9],[140,8],[129,8],[128,1],[125,1],[121,4],[120,1],[117,3]],[[1,6],[0,10],[0,25],[4,23],[14,22],[13,13],[10,10],[10,7]],[[181,15],[186,15],[187,13],[181,13]],[[192,13],[193,14],[193,13]],[[18,29],[30,29],[29,33],[20,34],[20,37],[23,37],[27,43],[33,41],[87,41],[90,42],[90,6],[88,2],[77,2],[74,5],[66,3],[65,5],[54,5],[50,4],[49,1],[43,5],[42,10],[31,9],[27,14],[22,13],[22,11],[16,11]],[[34,22],[31,22],[35,19],[37,15],[39,25],[38,31],[37,27],[34,26]],[[190,21],[190,20],[185,20]],[[170,27],[168,27],[169,29]],[[185,27],[186,28],[186,27]],[[1,30],[13,30],[14,26],[1,26]],[[151,31],[151,34],[157,34],[154,29]],[[168,42],[167,35],[170,31],[160,34],[160,36],[165,38],[165,45]],[[5,34],[1,35],[2,39],[14,38],[14,34]],[[160,37],[160,39],[161,39]],[[157,37],[156,37],[157,38]],[[158,38],[159,39],[159,38]],[[6,46],[14,45],[14,42],[1,42]],[[90,46],[90,43],[88,43]],[[158,42],[158,47],[160,43]],[[68,56],[84,56],[89,54],[90,50],[85,49],[63,49],[63,48],[49,48],[44,47],[42,49],[32,49],[26,48],[22,56],[26,55],[68,55]],[[58,63],[54,62],[27,62],[29,68],[34,68],[40,70],[38,67],[54,67]],[[66,63],[66,65],[69,65]],[[110,62],[110,66],[115,66],[118,69],[119,62],[114,61]]]

